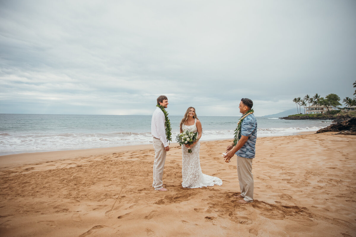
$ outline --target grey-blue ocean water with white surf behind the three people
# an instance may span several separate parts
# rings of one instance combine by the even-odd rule
[[[182,116],[169,116],[175,142]],[[240,117],[199,116],[202,141],[232,139]],[[257,137],[316,131],[330,120],[256,117]],[[0,155],[150,144],[151,115],[0,114]]]

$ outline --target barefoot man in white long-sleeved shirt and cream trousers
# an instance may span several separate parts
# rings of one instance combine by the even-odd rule
[[[159,96],[157,104],[167,108],[167,96]],[[164,127],[164,113],[161,108],[157,107],[152,115],[151,134],[153,136],[153,148],[155,149],[155,162],[153,163],[153,183],[152,187],[158,191],[167,191],[163,188],[163,168],[166,161],[166,153],[169,151],[167,143],[166,128]]]

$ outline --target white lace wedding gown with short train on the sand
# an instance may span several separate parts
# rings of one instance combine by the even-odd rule
[[[194,120],[193,125],[182,125],[183,131],[197,132],[197,119]],[[183,188],[202,188],[222,185],[223,181],[218,177],[203,174],[200,168],[200,141],[195,143],[192,147],[192,153],[188,153],[188,148],[182,145],[182,187]]]

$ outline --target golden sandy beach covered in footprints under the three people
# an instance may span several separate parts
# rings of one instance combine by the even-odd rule
[[[152,188],[152,145],[0,156],[1,236],[356,236],[356,136],[258,138],[255,201],[237,204],[230,140],[201,143],[222,186],[182,188],[171,144]]]

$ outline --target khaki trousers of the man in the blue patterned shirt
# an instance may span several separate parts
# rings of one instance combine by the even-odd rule
[[[252,158],[237,156],[237,176],[239,177],[241,196],[248,203],[253,202]]]

